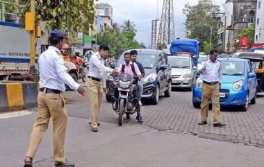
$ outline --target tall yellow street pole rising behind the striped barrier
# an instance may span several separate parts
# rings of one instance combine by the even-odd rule
[[[32,21],[35,22],[35,0],[31,0],[31,12],[34,13],[34,19]],[[35,24],[34,24],[35,25]],[[31,30],[31,61],[29,74],[35,74],[35,26],[33,30]]]

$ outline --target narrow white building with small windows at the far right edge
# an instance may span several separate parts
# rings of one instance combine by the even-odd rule
[[[258,0],[256,8],[255,44],[264,43],[264,1]]]

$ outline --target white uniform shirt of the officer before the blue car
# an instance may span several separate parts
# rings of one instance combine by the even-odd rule
[[[212,62],[210,59],[201,62],[201,67],[199,69],[204,68],[203,78],[202,80],[206,82],[220,82],[222,83],[222,67],[221,63],[216,60]]]

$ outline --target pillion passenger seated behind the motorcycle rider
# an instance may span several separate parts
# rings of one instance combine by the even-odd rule
[[[130,51],[130,56],[131,56],[131,62],[134,62],[135,64],[138,65],[138,69],[140,69],[141,76],[144,77],[145,76],[144,67],[141,64],[141,62],[137,61],[138,51],[136,51],[136,50]],[[142,98],[142,93],[143,93],[142,82],[138,82],[137,87],[138,87],[138,100],[139,100],[140,105],[142,105],[142,103],[141,103],[141,98]]]

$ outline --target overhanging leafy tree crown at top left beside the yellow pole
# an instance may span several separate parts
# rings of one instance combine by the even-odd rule
[[[18,0],[22,8],[22,18],[29,11],[30,1]],[[94,0],[36,0],[36,21],[48,21],[47,28],[59,28],[65,32],[88,34],[94,21]]]

